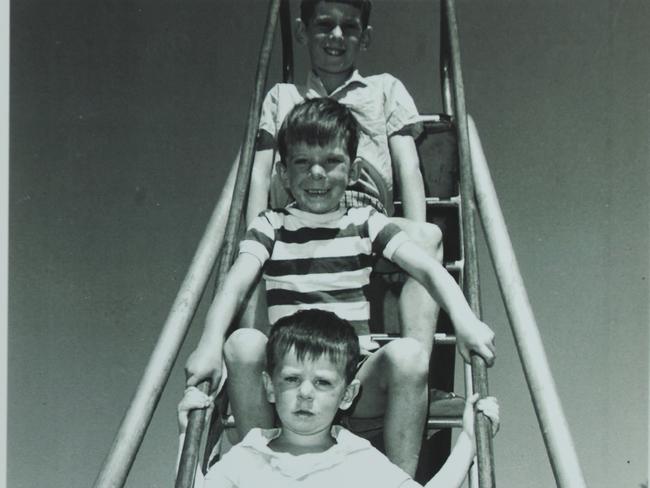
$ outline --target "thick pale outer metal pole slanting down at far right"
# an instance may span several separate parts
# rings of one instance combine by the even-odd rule
[[[471,120],[469,138],[479,215],[553,475],[559,488],[585,488],[573,439],[551,375],[478,131]]]

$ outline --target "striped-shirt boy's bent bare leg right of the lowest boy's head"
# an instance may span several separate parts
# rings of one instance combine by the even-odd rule
[[[397,339],[361,366],[361,393],[353,418],[384,416],[386,456],[414,476],[427,414],[426,350],[414,339]]]

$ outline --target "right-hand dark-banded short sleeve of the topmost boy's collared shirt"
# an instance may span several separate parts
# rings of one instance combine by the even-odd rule
[[[420,114],[415,102],[404,84],[397,78],[386,75],[384,82],[384,115],[386,133],[408,133],[416,138],[422,132]]]

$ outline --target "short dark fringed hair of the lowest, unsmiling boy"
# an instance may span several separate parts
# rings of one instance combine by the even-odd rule
[[[278,320],[266,344],[266,369],[269,374],[291,349],[300,361],[326,355],[333,362],[343,364],[348,384],[357,372],[359,338],[347,320],[332,312],[300,310]]]

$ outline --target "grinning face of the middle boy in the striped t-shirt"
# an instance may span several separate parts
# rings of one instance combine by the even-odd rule
[[[336,138],[322,146],[291,144],[277,168],[296,207],[315,214],[336,210],[348,184],[359,176],[359,162],[350,161],[347,147]]]

